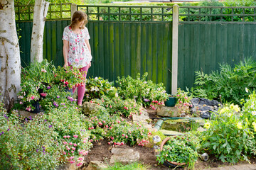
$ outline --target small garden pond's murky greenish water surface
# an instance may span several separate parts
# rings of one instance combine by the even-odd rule
[[[188,132],[191,130],[198,130],[202,127],[206,120],[191,120],[191,119],[176,119],[176,120],[165,120],[161,129],[170,130],[176,132]]]

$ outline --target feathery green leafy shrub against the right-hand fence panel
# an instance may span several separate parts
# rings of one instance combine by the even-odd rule
[[[229,64],[220,64],[220,72],[210,74],[196,72],[193,96],[217,99],[219,95],[223,101],[240,104],[242,98],[248,98],[245,89],[256,90],[256,62],[252,58],[241,61],[231,67]]]

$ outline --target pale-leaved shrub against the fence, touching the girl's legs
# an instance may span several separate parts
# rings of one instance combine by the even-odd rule
[[[85,100],[90,101],[94,98],[101,98],[102,95],[114,97],[117,95],[117,89],[113,86],[114,82],[109,82],[102,77],[89,78],[85,86]]]

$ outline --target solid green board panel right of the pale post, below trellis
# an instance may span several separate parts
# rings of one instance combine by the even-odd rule
[[[195,71],[210,73],[219,63],[256,60],[256,23],[180,23],[178,86],[193,86]]]

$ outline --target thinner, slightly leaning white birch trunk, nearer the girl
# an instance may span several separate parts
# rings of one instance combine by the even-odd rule
[[[46,22],[48,6],[48,1],[35,1],[31,37],[31,62],[43,61],[43,30]]]

